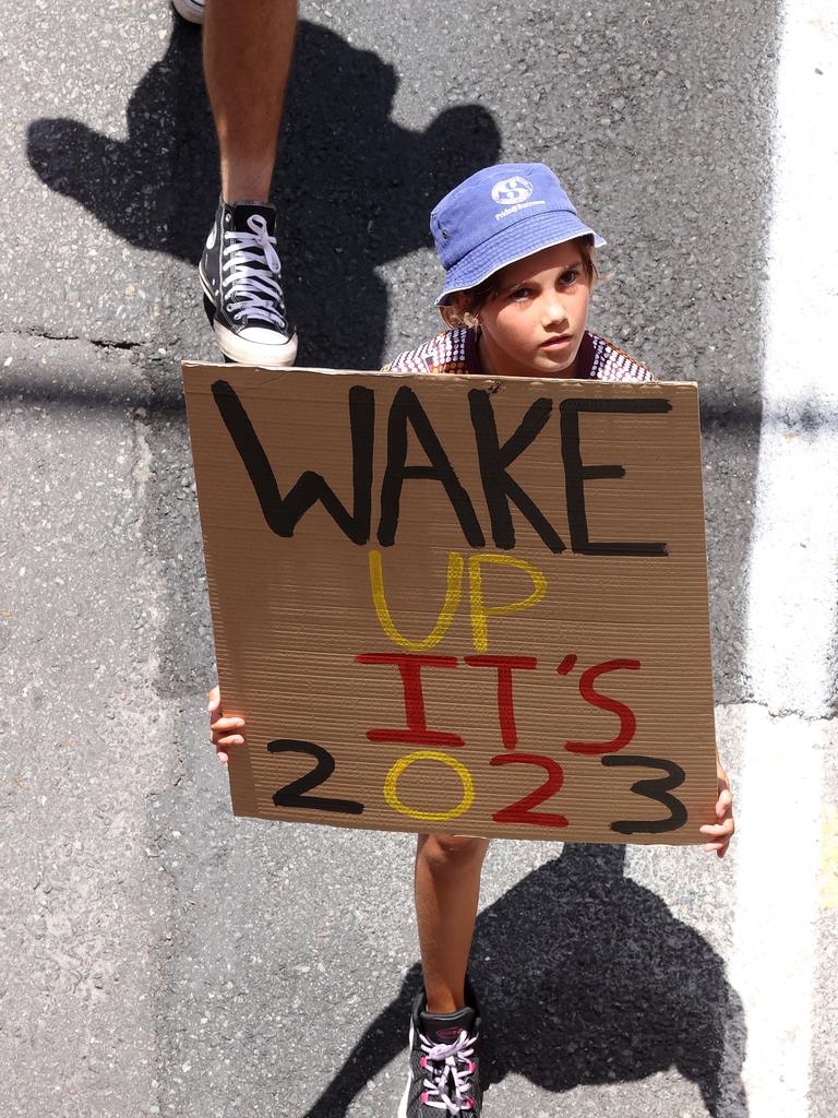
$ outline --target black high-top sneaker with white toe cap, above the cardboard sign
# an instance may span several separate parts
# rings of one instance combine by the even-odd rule
[[[276,211],[261,202],[218,203],[198,266],[216,341],[238,364],[294,364],[297,335],[285,313]]]

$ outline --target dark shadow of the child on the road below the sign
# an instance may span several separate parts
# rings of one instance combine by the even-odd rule
[[[623,862],[621,846],[569,844],[478,916],[486,1084],[514,1072],[569,1091],[675,1067],[713,1118],[745,1118],[743,1012],[723,961]],[[345,1115],[402,1050],[420,982],[417,964],[305,1118]]]

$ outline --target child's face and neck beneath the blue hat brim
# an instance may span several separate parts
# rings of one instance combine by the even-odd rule
[[[569,241],[510,264],[477,318],[480,361],[499,376],[573,377],[591,286]]]

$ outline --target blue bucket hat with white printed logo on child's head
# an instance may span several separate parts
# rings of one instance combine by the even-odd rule
[[[590,236],[561,183],[543,163],[498,163],[446,195],[430,215],[430,231],[446,271],[437,306],[525,256]]]

